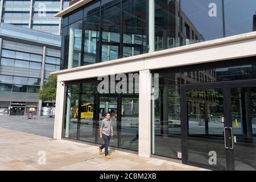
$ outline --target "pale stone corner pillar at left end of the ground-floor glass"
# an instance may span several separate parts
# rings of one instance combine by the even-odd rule
[[[64,94],[65,94],[64,82],[61,82],[60,80],[57,81],[57,91],[56,92],[58,94],[56,96],[53,138],[60,140],[61,139],[61,131],[62,131]]]

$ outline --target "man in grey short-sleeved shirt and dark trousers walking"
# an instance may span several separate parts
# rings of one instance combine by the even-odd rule
[[[100,128],[100,138],[104,139],[105,144],[103,144],[99,150],[100,154],[103,154],[102,149],[105,148],[105,158],[110,159],[109,156],[109,141],[110,141],[110,130],[111,130],[111,137],[113,137],[113,127],[112,127],[112,120],[110,119],[110,114],[105,113],[105,118],[102,120],[101,128]]]

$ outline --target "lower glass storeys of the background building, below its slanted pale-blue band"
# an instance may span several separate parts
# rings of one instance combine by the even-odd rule
[[[11,25],[13,26],[13,25]],[[60,69],[60,50],[46,48],[44,80],[49,73]],[[27,110],[38,108],[38,89],[41,85],[43,46],[35,46],[3,39],[0,60],[0,101],[33,101],[35,106],[0,108],[3,115],[24,115]],[[1,113],[0,113],[1,115]]]

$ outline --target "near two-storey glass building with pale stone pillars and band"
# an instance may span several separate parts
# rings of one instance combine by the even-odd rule
[[[52,73],[61,81],[55,139],[100,145],[100,123],[109,112],[110,146],[117,150],[255,170],[254,0],[71,4],[56,14],[63,35],[61,71]],[[104,76],[110,81],[102,86]],[[124,77],[132,89],[111,92]],[[213,151],[217,163],[209,163]]]

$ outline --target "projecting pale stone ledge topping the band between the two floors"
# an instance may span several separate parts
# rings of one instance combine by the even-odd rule
[[[226,37],[226,38],[209,40],[209,41],[206,41],[206,42],[201,42],[201,43],[196,43],[196,44],[190,44],[190,45],[187,45],[187,46],[164,49],[162,51],[144,53],[142,55],[130,56],[130,57],[125,57],[125,58],[121,58],[121,59],[106,61],[106,62],[102,62],[102,63],[95,63],[95,64],[90,64],[90,65],[85,65],[85,66],[82,66],[82,67],[64,69],[64,70],[61,70],[61,71],[52,72],[51,75],[63,75],[65,73],[84,71],[86,69],[94,69],[94,68],[98,68],[98,67],[105,67],[105,66],[110,66],[110,65],[127,63],[127,62],[130,62],[130,61],[152,59],[152,58],[158,57],[158,56],[182,54],[183,52],[196,51],[197,49],[203,49],[203,48],[217,47],[217,46],[230,44],[230,43],[238,43],[238,42],[243,42],[245,40],[250,40],[250,39],[256,39],[256,31],[245,33],[245,34],[240,34],[240,35],[229,36],[229,37]],[[256,49],[256,47],[255,47],[255,49]]]

